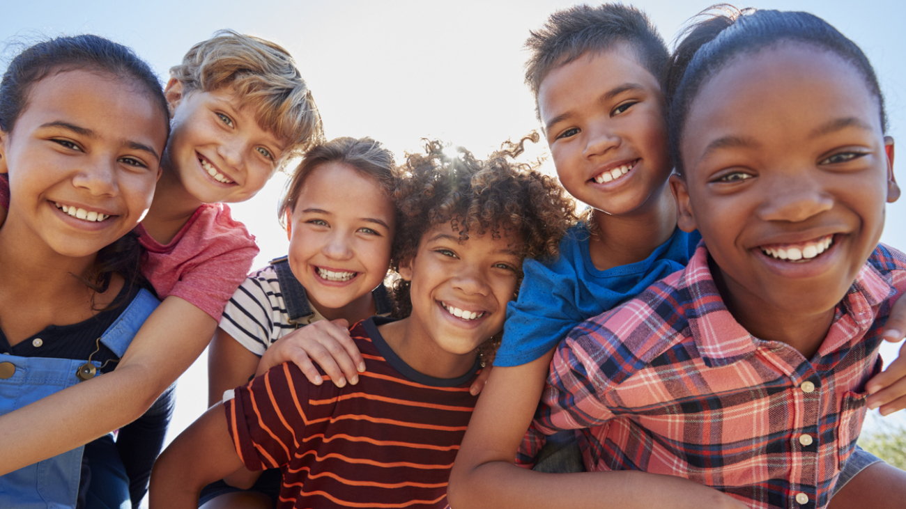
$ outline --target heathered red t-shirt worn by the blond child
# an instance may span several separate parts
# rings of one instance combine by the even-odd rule
[[[230,216],[229,206],[199,206],[167,245],[151,238],[141,225],[137,231],[148,250],[141,273],[160,300],[176,295],[220,322],[226,303],[258,254],[255,237]]]

